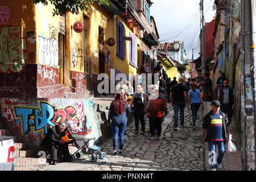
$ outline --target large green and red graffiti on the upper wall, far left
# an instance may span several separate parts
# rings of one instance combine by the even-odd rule
[[[0,27],[0,72],[21,72],[24,69],[26,39],[20,26]]]

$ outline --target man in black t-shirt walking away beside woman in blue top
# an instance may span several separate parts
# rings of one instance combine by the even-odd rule
[[[178,114],[180,110],[180,127],[184,127],[184,108],[187,103],[187,90],[183,85],[184,78],[179,78],[179,84],[172,86],[170,99],[174,107],[174,131],[177,131]]]

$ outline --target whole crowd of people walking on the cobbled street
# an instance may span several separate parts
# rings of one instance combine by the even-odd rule
[[[143,68],[146,72],[147,65]],[[179,125],[184,127],[184,109],[190,107],[192,113],[192,127],[196,129],[197,112],[204,101],[212,101],[212,110],[205,115],[202,125],[202,140],[208,142],[209,151],[212,151],[215,158],[216,146],[219,148],[217,164],[212,164],[212,169],[221,167],[222,158],[225,153],[225,143],[231,137],[229,125],[232,121],[233,109],[236,106],[236,94],[230,87],[229,80],[225,73],[221,73],[217,80],[216,89],[213,90],[213,82],[209,74],[204,74],[202,78],[176,77],[171,80],[164,69],[159,69],[159,81],[154,85],[149,85],[144,92],[142,85],[138,84],[136,90],[130,82],[121,82],[117,85],[115,99],[109,109],[109,123],[112,121],[113,130],[113,154],[117,154],[117,140],[119,136],[119,153],[122,153],[125,128],[127,123],[127,113],[133,113],[135,119],[134,134],[138,135],[139,123],[141,124],[141,135],[145,135],[145,118],[148,118],[150,137],[154,140],[162,138],[162,122],[168,114],[166,102],[170,102],[174,108],[174,131]],[[228,134],[226,134],[228,133]]]

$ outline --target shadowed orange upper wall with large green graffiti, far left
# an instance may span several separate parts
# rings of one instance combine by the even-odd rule
[[[14,38],[11,40],[13,41],[13,47],[9,47],[10,50],[8,53],[0,53],[0,57],[3,57],[3,59],[0,59],[0,62],[5,65],[5,68],[1,66],[0,72],[20,72],[24,69],[25,63],[35,63],[36,61],[35,41],[32,41],[34,43],[31,43],[26,39],[27,31],[35,31],[35,7],[32,5],[31,0],[0,1],[0,6],[6,6],[10,9],[9,18],[6,19],[7,22],[2,22],[1,20],[2,23],[0,23],[0,27],[3,27],[0,34],[1,49],[3,50],[4,48],[7,48],[6,44],[4,44],[7,40],[7,34],[19,34],[19,37],[21,38],[17,39],[16,36],[12,36],[11,38]],[[17,67],[14,65],[17,65]]]

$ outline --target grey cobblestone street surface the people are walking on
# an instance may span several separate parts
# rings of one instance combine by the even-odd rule
[[[134,121],[126,127],[126,133],[129,141],[125,141],[122,155],[112,155],[112,138],[108,142],[100,143],[101,151],[106,152],[107,157],[98,160],[97,163],[90,162],[90,156],[84,155],[82,159],[76,159],[74,162],[58,163],[57,166],[46,166],[43,170],[65,169],[69,170],[73,163],[77,164],[71,170],[82,171],[148,171],[148,170],[203,170],[204,171],[204,143],[201,140],[201,122],[203,119],[203,110],[200,108],[196,123],[196,130],[192,129],[191,110],[185,108],[185,123],[183,128],[174,129],[174,111],[171,104],[167,103],[169,114],[162,123],[162,140],[149,140],[150,135],[134,134]],[[179,120],[180,122],[180,120]],[[180,124],[180,123],[179,123]],[[140,128],[139,128],[140,129]],[[148,119],[146,119],[146,132],[148,131]],[[119,142],[118,142],[119,144]],[[81,164],[81,165],[80,165]],[[61,169],[62,170],[62,169]]]

